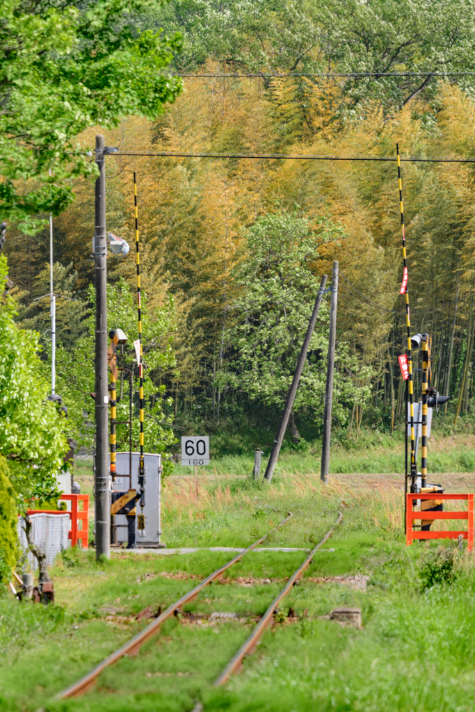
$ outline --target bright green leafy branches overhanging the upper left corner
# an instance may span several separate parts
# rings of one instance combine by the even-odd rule
[[[180,37],[138,32],[130,14],[157,0],[3,0],[0,21],[0,214],[32,233],[38,213],[73,199],[68,179],[95,172],[75,138],[127,114],[157,117],[179,93],[162,69]],[[52,176],[48,175],[51,169]],[[34,179],[34,180],[32,180]]]

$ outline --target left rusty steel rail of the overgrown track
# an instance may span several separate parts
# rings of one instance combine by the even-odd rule
[[[264,540],[266,540],[269,534],[286,524],[292,516],[293,514],[289,512],[285,519],[283,519],[278,525],[269,530],[265,535],[263,535],[263,537],[255,541],[254,544],[251,544],[251,546],[248,546],[248,548],[244,549],[244,551],[241,551],[241,553],[237,554],[226,564],[220,566],[219,569],[213,571],[211,574],[209,574],[209,576],[207,576],[207,578],[205,578],[201,583],[194,587],[194,589],[192,589],[188,593],[185,593],[181,598],[179,598],[179,600],[169,605],[169,607],[162,614],[160,614],[160,616],[157,617],[155,621],[152,621],[152,623],[147,625],[147,627],[137,633],[133,638],[127,641],[127,643],[122,645],[118,650],[111,653],[107,658],[103,659],[103,661],[100,661],[98,665],[96,665],[92,670],[83,675],[83,677],[81,677],[78,681],[66,687],[66,689],[62,690],[61,692],[58,692],[58,694],[54,696],[53,700],[63,700],[68,697],[78,697],[79,695],[82,695],[83,693],[88,691],[90,687],[93,686],[96,679],[98,679],[98,676],[106,667],[113,665],[124,655],[137,654],[140,649],[140,646],[145,643],[146,640],[152,637],[152,635],[157,633],[160,630],[160,626],[162,625],[162,623],[164,623],[167,618],[172,617],[172,615],[174,615],[174,612],[179,609],[180,606],[184,605],[185,603],[188,603],[189,601],[192,601],[195,597],[197,597],[199,592],[204,589],[204,587],[206,587],[209,583],[216,580],[217,578],[222,577],[226,569],[229,569],[229,567],[238,562],[244,555],[249,553],[249,551],[253,550],[258,544],[261,544]]]

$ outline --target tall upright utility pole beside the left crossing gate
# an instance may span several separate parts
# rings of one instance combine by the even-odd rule
[[[107,242],[105,236],[104,137],[95,137],[95,557],[110,557],[110,483],[108,443]]]

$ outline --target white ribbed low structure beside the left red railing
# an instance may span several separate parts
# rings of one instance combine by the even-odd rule
[[[37,512],[36,514],[31,514],[30,519],[33,541],[46,552],[47,565],[53,566],[56,556],[71,546],[71,539],[68,539],[71,527],[70,515],[66,512],[54,514]],[[28,551],[23,517],[18,518],[17,530],[21,549],[28,552],[28,563],[34,571],[38,566],[38,562],[33,554]]]

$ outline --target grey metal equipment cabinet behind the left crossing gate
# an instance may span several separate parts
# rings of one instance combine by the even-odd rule
[[[140,453],[132,452],[132,483],[129,480],[130,453],[118,452],[116,457],[115,481],[111,482],[113,491],[127,491],[136,489],[138,491]],[[162,495],[162,464],[161,456],[153,453],[145,453],[145,531],[137,529],[137,518],[135,518],[135,542],[137,547],[162,548],[162,522],[160,517],[160,499]],[[140,503],[137,502],[137,514],[140,514]],[[117,543],[127,543],[127,518],[125,514],[115,515],[117,529]],[[125,525],[125,526],[123,526]]]

